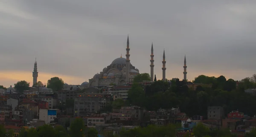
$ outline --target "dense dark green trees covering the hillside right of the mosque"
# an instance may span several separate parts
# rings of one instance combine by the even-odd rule
[[[193,115],[207,117],[208,106],[222,106],[225,114],[233,110],[239,110],[250,116],[256,114],[256,109],[251,107],[256,106],[255,96],[244,92],[245,89],[256,86],[256,74],[239,81],[238,87],[237,81],[226,80],[224,76],[200,75],[195,77],[193,82],[212,84],[212,87],[198,86],[196,89],[191,89],[186,85],[189,82],[179,79],[171,83],[158,80],[145,88],[134,83],[128,91],[128,102],[125,104],[141,106],[149,111],[179,107],[180,111],[190,117]]]

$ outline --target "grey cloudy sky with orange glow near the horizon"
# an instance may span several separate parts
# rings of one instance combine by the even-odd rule
[[[255,74],[254,0],[2,0],[0,2],[0,85],[61,77],[81,84],[125,56],[140,73],[162,78],[200,74],[241,80]],[[32,84],[30,84],[32,85]]]

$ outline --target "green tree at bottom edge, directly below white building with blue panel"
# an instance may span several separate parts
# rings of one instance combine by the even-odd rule
[[[39,137],[56,137],[55,130],[52,126],[45,124],[38,128]]]

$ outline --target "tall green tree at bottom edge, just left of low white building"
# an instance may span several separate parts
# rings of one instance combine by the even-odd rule
[[[84,121],[81,118],[76,118],[70,125],[71,137],[83,137],[84,136]]]

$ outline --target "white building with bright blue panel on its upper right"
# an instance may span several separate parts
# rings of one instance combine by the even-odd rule
[[[39,120],[43,120],[45,123],[49,124],[57,117],[57,110],[58,109],[40,109]]]

